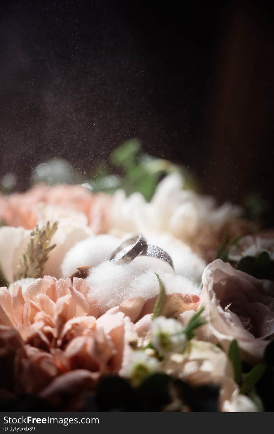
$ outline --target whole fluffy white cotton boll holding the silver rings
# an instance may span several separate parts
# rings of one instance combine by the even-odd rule
[[[159,273],[167,293],[199,295],[198,283],[205,264],[189,247],[170,234],[150,236],[147,240],[170,254],[175,272],[165,261],[148,256],[138,256],[128,264],[110,262],[111,253],[129,236],[121,239],[105,234],[77,243],[65,256],[62,276],[71,276],[78,266],[91,266],[87,277],[90,287],[88,296],[98,303],[101,311],[133,296],[144,299],[156,296],[159,283],[154,272]]]

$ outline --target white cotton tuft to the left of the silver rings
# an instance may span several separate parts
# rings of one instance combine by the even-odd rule
[[[64,278],[76,273],[79,266],[95,267],[108,260],[111,253],[121,244],[121,239],[111,235],[90,237],[75,244],[68,251],[62,263]]]

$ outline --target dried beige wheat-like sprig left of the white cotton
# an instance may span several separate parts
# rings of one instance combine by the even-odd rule
[[[58,222],[55,221],[50,226],[49,221],[42,229],[36,226],[30,234],[28,246],[20,258],[20,263],[16,267],[14,281],[25,277],[41,277],[44,264],[48,259],[48,253],[56,244],[50,246],[50,241],[57,230]]]

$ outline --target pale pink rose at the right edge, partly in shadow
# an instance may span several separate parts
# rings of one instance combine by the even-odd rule
[[[219,342],[225,351],[237,339],[242,359],[258,363],[274,336],[274,282],[255,279],[217,259],[206,267],[202,283],[200,306],[208,324],[196,335]]]

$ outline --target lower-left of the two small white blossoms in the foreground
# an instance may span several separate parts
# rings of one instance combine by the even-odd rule
[[[159,368],[160,362],[157,358],[138,350],[131,355],[126,376],[134,385],[138,385],[147,375],[152,374]]]

